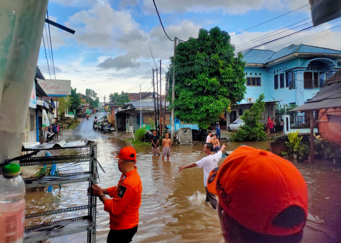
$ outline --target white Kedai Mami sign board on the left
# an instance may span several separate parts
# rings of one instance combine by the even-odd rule
[[[37,79],[37,81],[48,96],[71,95],[71,80]]]

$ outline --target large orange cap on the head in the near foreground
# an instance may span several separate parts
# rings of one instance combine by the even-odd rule
[[[284,209],[298,206],[308,215],[308,190],[297,168],[271,152],[240,146],[208,176],[207,189],[239,224],[261,234],[285,236],[299,232],[273,225]]]

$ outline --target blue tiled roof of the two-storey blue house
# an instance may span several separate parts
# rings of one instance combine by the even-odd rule
[[[316,46],[308,46],[308,45],[290,45],[284,47],[283,49],[273,52],[270,50],[259,50],[259,49],[251,49],[244,53],[243,61],[246,63],[252,64],[266,64],[268,62],[277,60],[284,56],[290,55],[292,53],[300,53],[300,54],[337,54],[341,55],[341,51],[333,50],[329,48],[316,47]]]

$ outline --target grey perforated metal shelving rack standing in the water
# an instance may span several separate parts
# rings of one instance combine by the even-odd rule
[[[32,165],[49,165],[61,163],[89,163],[89,171],[48,175],[43,177],[24,178],[25,188],[45,187],[50,185],[60,185],[69,183],[78,183],[82,181],[89,181],[89,187],[97,183],[97,147],[93,141],[85,141],[84,144],[78,146],[66,146],[53,148],[40,147],[39,150],[60,150],[60,149],[82,149],[89,148],[89,154],[86,155],[64,155],[64,156],[40,156],[29,157],[19,160],[20,166]],[[22,152],[35,151],[37,148],[22,148]],[[87,242],[96,242],[96,197],[89,193],[88,204],[78,207],[62,208],[57,210],[48,210],[38,213],[26,214],[25,219],[46,216],[51,214],[58,214],[76,210],[88,209],[86,216],[68,218],[51,223],[38,224],[27,226],[24,229],[24,243],[48,240],[51,238],[75,234],[87,231]]]

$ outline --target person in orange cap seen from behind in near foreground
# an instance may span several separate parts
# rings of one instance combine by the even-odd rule
[[[240,146],[208,176],[228,243],[299,243],[308,215],[303,176],[271,152]]]

